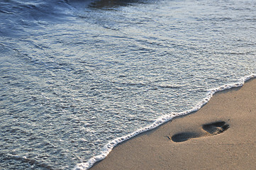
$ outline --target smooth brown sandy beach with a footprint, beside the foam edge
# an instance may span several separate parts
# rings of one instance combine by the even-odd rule
[[[123,142],[93,169],[256,169],[256,79]]]

